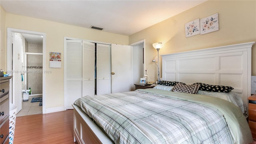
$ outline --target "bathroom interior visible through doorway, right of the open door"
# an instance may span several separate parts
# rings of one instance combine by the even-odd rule
[[[30,34],[22,34],[22,36],[27,42],[22,65],[25,69],[23,73],[25,84],[22,110],[18,112],[17,116],[42,114],[42,38],[33,35],[31,37]]]

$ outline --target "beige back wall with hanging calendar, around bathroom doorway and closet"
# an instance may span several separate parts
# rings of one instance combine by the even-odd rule
[[[61,108],[64,106],[64,55],[62,55],[61,68],[49,68],[48,61],[49,52],[61,52],[62,54],[64,54],[64,37],[128,45],[128,36],[102,32],[99,30],[92,30],[89,28],[82,28],[78,26],[71,26],[68,24],[62,24],[58,22],[41,20],[26,16],[19,16],[10,13],[6,13],[5,28],[3,28],[5,29],[4,37],[6,37],[7,35],[6,28],[17,28],[22,30],[31,30],[46,33],[46,70],[52,71],[51,74],[46,74],[46,109],[56,107]],[[3,29],[1,25],[1,31]],[[6,55],[6,38],[4,42],[5,45],[3,55]],[[2,58],[2,53],[1,63],[4,63],[4,68],[6,68],[6,57]],[[48,110],[46,110],[46,112],[47,111]]]

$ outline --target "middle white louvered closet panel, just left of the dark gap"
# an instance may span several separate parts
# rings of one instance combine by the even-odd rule
[[[83,41],[82,96],[95,94],[95,43]]]

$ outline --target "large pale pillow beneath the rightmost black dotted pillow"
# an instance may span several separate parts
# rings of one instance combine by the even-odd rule
[[[214,96],[216,98],[227,100],[229,102],[232,102],[234,105],[238,106],[241,109],[242,113],[245,112],[244,102],[241,96],[236,92],[207,92],[207,91],[198,90],[197,94]]]

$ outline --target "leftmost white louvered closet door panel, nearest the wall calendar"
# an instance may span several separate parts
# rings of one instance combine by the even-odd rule
[[[82,93],[82,40],[66,40],[64,50],[65,108],[73,109],[74,101]]]

